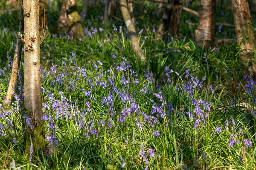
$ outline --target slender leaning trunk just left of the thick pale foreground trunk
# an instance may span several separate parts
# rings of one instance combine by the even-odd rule
[[[21,3],[23,3],[23,0],[21,0]],[[7,102],[8,108],[12,103],[12,97],[13,97],[12,94],[14,93],[14,90],[15,90],[17,77],[20,69],[20,59],[21,59],[21,52],[23,47],[23,42],[21,38],[22,39],[24,38],[24,37],[20,37],[20,35],[24,34],[24,16],[23,15],[24,15],[23,8],[20,6],[20,28],[19,28],[20,34],[18,35],[18,40],[16,43],[15,53],[14,53],[13,62],[12,62],[12,73],[11,73],[8,90],[6,93],[6,102]]]

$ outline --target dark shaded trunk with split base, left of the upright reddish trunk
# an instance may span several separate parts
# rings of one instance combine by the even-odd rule
[[[169,32],[172,37],[176,37],[179,31],[180,23],[180,0],[174,0],[173,4],[169,2],[166,6],[163,18],[160,20],[160,26],[157,30],[157,39],[163,35],[163,31]]]

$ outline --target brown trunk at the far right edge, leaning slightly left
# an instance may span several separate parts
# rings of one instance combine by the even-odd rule
[[[255,37],[250,16],[249,4],[245,0],[231,0],[231,6],[234,16],[236,41],[241,47],[240,61],[246,67],[243,74],[249,74],[254,77],[256,74],[256,65],[249,63],[255,60],[253,52],[256,50]],[[246,60],[250,60],[249,62]]]

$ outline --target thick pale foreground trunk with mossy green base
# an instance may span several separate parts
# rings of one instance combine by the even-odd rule
[[[29,154],[32,139],[33,150],[45,147],[44,122],[41,98],[40,47],[39,47],[39,1],[23,0],[29,9],[24,15],[24,107],[32,129],[27,127],[26,151]]]

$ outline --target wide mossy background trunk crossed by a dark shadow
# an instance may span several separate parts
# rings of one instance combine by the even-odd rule
[[[62,0],[58,30],[66,30],[72,38],[82,38],[84,33],[81,17],[77,11],[76,0]]]

